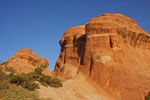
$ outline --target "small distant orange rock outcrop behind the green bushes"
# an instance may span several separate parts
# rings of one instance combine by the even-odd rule
[[[35,68],[41,65],[49,66],[49,62],[33,53],[30,49],[19,50],[14,57],[10,57],[7,61],[7,67],[13,67],[17,73],[33,72]],[[44,70],[45,73],[50,73],[48,68]]]

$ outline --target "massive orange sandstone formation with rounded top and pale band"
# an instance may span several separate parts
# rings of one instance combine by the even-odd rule
[[[115,100],[144,100],[150,91],[150,35],[134,20],[104,14],[67,30],[60,45],[54,74],[62,80],[83,72]]]

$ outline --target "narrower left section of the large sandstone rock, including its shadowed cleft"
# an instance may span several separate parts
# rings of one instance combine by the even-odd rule
[[[83,64],[85,39],[85,26],[73,27],[64,33],[60,40],[61,53],[56,62],[54,71],[56,76],[65,80],[73,78],[75,73],[78,73],[79,66]],[[72,68],[65,68],[69,67],[69,65]],[[74,75],[70,73],[67,74],[67,78],[64,77],[66,73],[64,69],[67,69],[68,72],[73,72]]]

